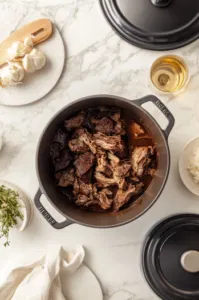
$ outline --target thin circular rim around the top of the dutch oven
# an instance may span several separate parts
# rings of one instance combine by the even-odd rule
[[[147,95],[147,96],[144,96],[144,97],[141,97],[139,99],[142,99],[142,98],[145,98],[145,97],[156,97],[154,95]],[[53,201],[50,199],[50,197],[48,196],[48,194],[46,193],[44,187],[43,187],[43,184],[41,182],[41,179],[40,179],[40,174],[39,174],[39,168],[38,168],[38,156],[39,156],[39,149],[40,149],[40,144],[41,144],[41,141],[43,139],[43,136],[46,132],[46,130],[48,129],[49,125],[60,115],[60,113],[62,113],[64,110],[66,110],[67,108],[69,108],[70,106],[73,106],[75,103],[78,103],[78,102],[84,102],[85,100],[88,100],[88,99],[97,99],[97,98],[112,98],[112,99],[115,99],[115,100],[121,100],[121,101],[124,101],[126,103],[130,103],[131,105],[133,106],[136,106],[137,108],[139,108],[144,114],[147,114],[149,118],[151,118],[155,124],[158,126],[158,128],[160,129],[160,132],[163,136],[163,139],[165,140],[165,146],[166,146],[166,151],[167,151],[167,154],[168,154],[168,164],[167,164],[167,170],[166,170],[166,174],[165,174],[165,178],[164,178],[164,181],[162,183],[162,186],[158,192],[158,194],[155,196],[153,202],[147,207],[145,208],[140,214],[138,214],[136,217],[133,217],[133,218],[130,218],[124,222],[121,222],[121,223],[118,223],[118,224],[115,224],[115,225],[90,225],[90,224],[86,224],[84,222],[80,222],[80,221],[77,221],[71,217],[68,217],[66,216],[54,203]],[[138,99],[136,99],[138,100]],[[116,105],[117,106],[117,105]],[[169,176],[169,171],[170,171],[170,150],[169,150],[169,146],[168,146],[168,141],[166,140],[166,137],[164,135],[164,132],[162,130],[162,128],[160,127],[160,125],[157,123],[157,121],[153,118],[153,116],[148,113],[148,111],[146,111],[144,108],[142,108],[141,106],[137,105],[136,103],[134,103],[134,100],[128,100],[126,98],[123,98],[123,97],[120,97],[120,96],[114,96],[114,95],[109,95],[109,94],[97,94],[97,95],[91,95],[91,96],[85,96],[85,97],[81,97],[81,98],[78,98],[72,102],[70,102],[68,105],[65,105],[64,107],[62,107],[56,114],[54,114],[50,120],[48,121],[47,125],[44,127],[44,129],[42,130],[42,133],[40,134],[40,138],[39,138],[39,141],[38,141],[38,144],[37,144],[37,150],[36,150],[36,173],[37,173],[37,178],[38,178],[38,181],[39,181],[39,189],[41,190],[41,193],[43,195],[45,195],[45,197],[48,199],[48,201],[50,202],[50,204],[55,208],[56,211],[58,211],[63,217],[65,217],[67,220],[70,220],[71,223],[75,223],[75,224],[79,224],[79,225],[82,225],[82,226],[85,226],[85,227],[91,227],[91,228],[99,228],[99,229],[103,229],[103,228],[114,228],[114,227],[119,227],[119,226],[123,226],[123,225],[126,225],[126,224],[129,224],[131,223],[132,221],[138,219],[139,217],[141,217],[142,215],[144,215],[155,203],[156,201],[158,200],[158,198],[160,197],[160,195],[162,194],[163,192],[163,189],[166,185],[166,182],[167,182],[167,179],[168,179],[168,176]]]

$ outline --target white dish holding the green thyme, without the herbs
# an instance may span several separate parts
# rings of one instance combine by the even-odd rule
[[[0,185],[4,185],[5,187],[13,189],[18,192],[19,194],[18,201],[22,206],[21,211],[23,213],[24,219],[23,221],[20,221],[16,227],[19,231],[24,231],[33,217],[33,205],[30,198],[26,193],[24,193],[18,186],[16,186],[13,183],[0,180]]]

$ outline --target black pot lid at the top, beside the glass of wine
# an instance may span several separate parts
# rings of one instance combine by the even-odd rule
[[[199,36],[198,0],[100,0],[113,29],[129,43],[171,50]]]

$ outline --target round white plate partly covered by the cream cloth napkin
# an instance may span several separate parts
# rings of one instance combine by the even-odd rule
[[[99,281],[84,264],[72,275],[62,273],[61,278],[67,300],[103,300]]]

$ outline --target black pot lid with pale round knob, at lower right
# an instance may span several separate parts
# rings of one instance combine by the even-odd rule
[[[147,236],[144,275],[163,300],[199,299],[199,215],[177,215]]]

